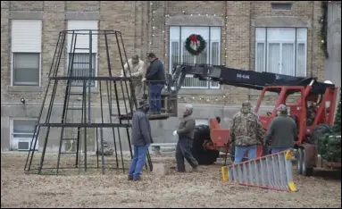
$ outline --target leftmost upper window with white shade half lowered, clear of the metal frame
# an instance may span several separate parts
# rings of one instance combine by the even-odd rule
[[[12,85],[40,86],[42,21],[12,21]]]

